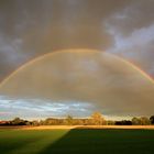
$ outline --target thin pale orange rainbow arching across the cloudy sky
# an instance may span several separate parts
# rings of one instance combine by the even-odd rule
[[[82,51],[87,51],[87,52],[99,52],[100,53],[100,51],[97,51],[97,50],[86,50],[86,48],[82,48],[82,50],[62,50],[62,51],[55,51],[55,52],[52,52],[52,53],[47,53],[47,54],[44,54],[44,55],[42,55],[42,56],[38,56],[38,57],[36,57],[36,58],[34,58],[34,59],[32,59],[32,61],[30,61],[30,62],[28,62],[28,63],[25,63],[24,65],[22,65],[22,66],[20,66],[16,70],[14,70],[12,74],[10,74],[8,77],[6,77],[1,82],[0,82],[0,88],[9,80],[9,79],[11,79],[15,74],[18,74],[20,70],[22,70],[22,69],[24,69],[25,67],[28,67],[28,66],[30,66],[30,65],[32,65],[33,63],[35,63],[35,62],[37,62],[37,61],[41,61],[41,59],[43,59],[43,58],[45,58],[45,57],[47,57],[47,56],[51,56],[51,55],[54,55],[54,54],[57,54],[57,53],[62,53],[62,52],[82,52]],[[124,58],[122,58],[122,57],[119,57],[119,56],[117,56],[117,55],[114,55],[114,54],[109,54],[109,53],[106,53],[106,54],[108,54],[108,55],[112,55],[114,58],[117,58],[117,59],[119,59],[119,61],[121,61],[121,62],[123,62],[123,63],[125,63],[127,65],[129,65],[130,67],[132,67],[134,70],[136,70],[136,72],[139,72],[142,76],[144,76],[146,79],[148,79],[152,84],[154,84],[154,79],[150,76],[150,75],[147,75],[143,69],[141,69],[140,67],[138,67],[136,65],[134,65],[133,63],[131,63],[131,62],[129,62],[129,61],[127,61],[127,59],[124,59]]]

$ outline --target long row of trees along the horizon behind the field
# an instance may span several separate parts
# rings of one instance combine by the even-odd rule
[[[23,120],[14,118],[10,121],[0,121],[0,125],[150,125],[154,124],[154,116],[132,118],[132,120],[106,120],[100,112],[94,112],[89,118],[47,118],[45,120]]]

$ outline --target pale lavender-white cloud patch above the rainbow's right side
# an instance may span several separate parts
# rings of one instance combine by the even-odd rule
[[[154,24],[138,29],[130,35],[119,33],[113,25],[108,26],[114,37],[114,45],[108,52],[118,54],[154,76]]]

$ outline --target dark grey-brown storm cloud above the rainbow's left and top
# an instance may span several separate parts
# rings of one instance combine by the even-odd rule
[[[61,48],[106,51],[103,21],[130,0],[1,0],[0,79],[35,56]]]

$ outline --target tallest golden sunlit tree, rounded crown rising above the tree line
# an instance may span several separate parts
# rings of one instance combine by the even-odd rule
[[[92,118],[92,124],[95,124],[95,125],[101,125],[101,124],[106,123],[106,121],[102,118],[102,114],[100,112],[94,112],[91,114],[91,118]]]

